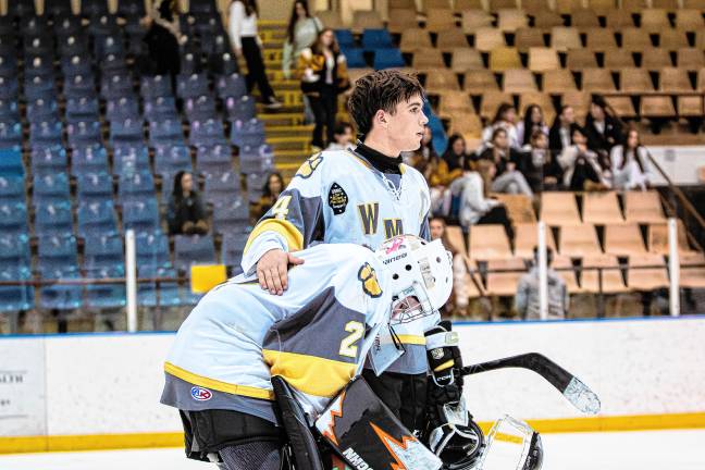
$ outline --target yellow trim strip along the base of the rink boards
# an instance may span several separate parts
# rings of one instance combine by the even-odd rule
[[[544,434],[702,429],[705,428],[705,412],[529,420],[528,422]],[[486,433],[493,423],[487,421],[479,424]],[[22,436],[0,437],[0,454],[181,447],[183,445],[184,434],[180,432]]]

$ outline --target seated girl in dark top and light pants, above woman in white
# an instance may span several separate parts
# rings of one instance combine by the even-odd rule
[[[494,193],[523,194],[533,197],[527,178],[517,170],[521,153],[509,147],[507,131],[497,127],[492,133],[491,147],[481,154],[481,160],[490,160],[496,166],[496,176],[492,181]]]

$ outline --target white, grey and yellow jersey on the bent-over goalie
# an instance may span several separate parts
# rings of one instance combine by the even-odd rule
[[[234,409],[275,421],[271,375],[282,375],[316,417],[361,372],[388,323],[388,276],[356,245],[297,252],[282,296],[236,277],[210,290],[169,352],[162,403],[184,410]]]

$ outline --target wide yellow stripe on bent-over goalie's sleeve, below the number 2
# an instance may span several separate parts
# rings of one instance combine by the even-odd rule
[[[308,395],[334,397],[355,376],[355,363],[316,356],[262,349],[272,375],[282,375]]]

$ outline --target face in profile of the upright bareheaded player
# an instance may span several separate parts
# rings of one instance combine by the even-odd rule
[[[385,113],[389,143],[399,152],[413,151],[421,147],[424,127],[429,119],[423,113],[423,101],[413,96],[396,106],[394,114]]]

